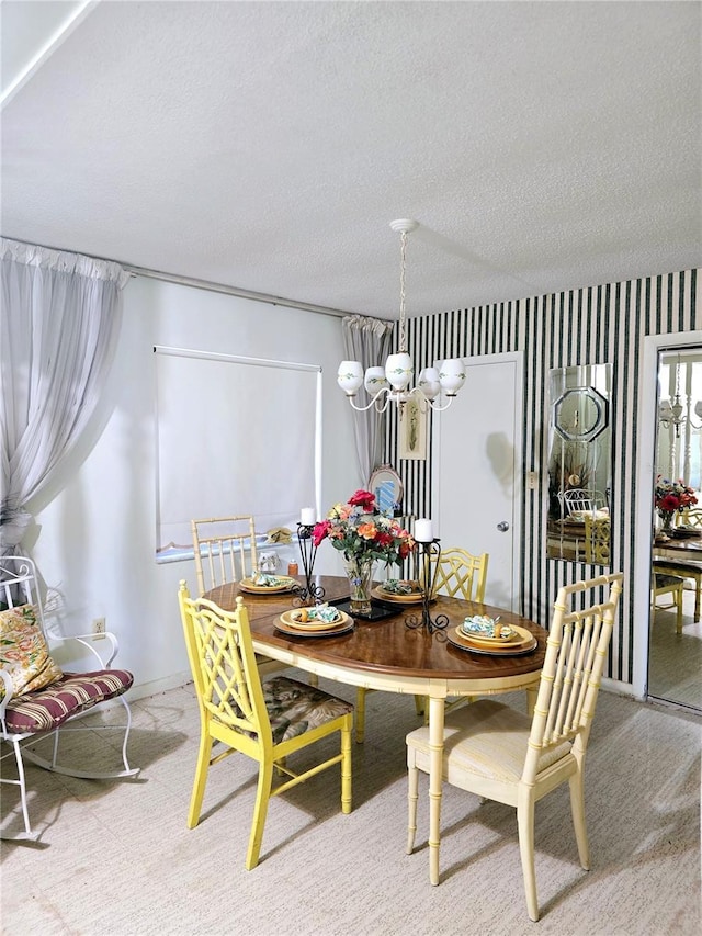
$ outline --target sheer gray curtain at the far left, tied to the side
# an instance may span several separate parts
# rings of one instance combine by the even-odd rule
[[[117,263],[0,238],[0,556],[94,410],[118,335]]]

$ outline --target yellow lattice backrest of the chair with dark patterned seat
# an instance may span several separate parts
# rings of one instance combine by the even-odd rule
[[[234,612],[213,601],[190,597],[188,585],[178,593],[181,620],[203,715],[224,730],[271,737],[261,678],[251,643],[249,616],[242,599]],[[211,725],[216,735],[216,728]],[[251,740],[256,744],[256,740]]]

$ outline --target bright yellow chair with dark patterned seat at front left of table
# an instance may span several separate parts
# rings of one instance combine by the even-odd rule
[[[353,706],[279,676],[261,683],[249,629],[249,616],[237,598],[234,613],[203,598],[191,599],[184,580],[179,591],[180,611],[201,717],[200,751],[188,827],[194,828],[211,765],[240,752],[259,764],[253,822],[246,868],[259,860],[269,799],[302,783],[315,774],[341,765],[341,811],[351,812],[351,732]],[[288,767],[290,755],[336,732],[340,753],[302,774]],[[224,747],[218,753],[213,745]],[[273,786],[273,768],[287,779]]]

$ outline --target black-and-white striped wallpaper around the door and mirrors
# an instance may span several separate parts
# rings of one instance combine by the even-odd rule
[[[543,489],[528,490],[525,486],[528,471],[536,471],[542,476],[546,470],[548,371],[577,364],[612,363],[611,568],[624,572],[625,589],[607,675],[625,684],[632,683],[633,666],[633,520],[642,342],[647,335],[672,335],[702,327],[699,273],[700,270],[684,270],[458,309],[407,323],[407,350],[417,364],[506,351],[524,353],[519,610],[546,625],[558,588],[595,572],[584,563],[546,559],[546,497]],[[397,337],[396,328],[395,349]],[[397,416],[393,411],[387,424],[385,460],[396,463],[403,478],[405,510],[415,517],[431,516],[431,460],[396,460],[397,429]],[[428,449],[431,452],[431,425]]]

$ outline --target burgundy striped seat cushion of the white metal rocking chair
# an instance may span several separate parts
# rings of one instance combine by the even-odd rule
[[[5,710],[8,731],[12,734],[54,731],[72,715],[122,696],[133,683],[134,676],[126,669],[65,673],[45,689],[10,700]]]

